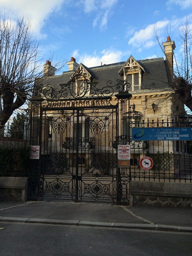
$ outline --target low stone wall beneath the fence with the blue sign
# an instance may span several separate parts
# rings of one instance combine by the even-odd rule
[[[130,205],[191,207],[191,183],[130,181]]]

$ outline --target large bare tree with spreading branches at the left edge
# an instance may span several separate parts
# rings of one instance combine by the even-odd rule
[[[31,95],[34,80],[43,77],[43,56],[30,24],[24,17],[14,22],[0,14],[0,127]],[[58,71],[64,64],[59,59],[54,67]]]

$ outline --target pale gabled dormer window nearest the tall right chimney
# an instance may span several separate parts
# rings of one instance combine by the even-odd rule
[[[130,83],[130,91],[141,89],[142,71],[144,71],[143,67],[131,55],[119,70],[119,74],[123,75],[123,80]]]

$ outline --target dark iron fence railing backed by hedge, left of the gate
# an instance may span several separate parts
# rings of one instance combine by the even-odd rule
[[[0,176],[27,176],[29,125],[0,126]]]

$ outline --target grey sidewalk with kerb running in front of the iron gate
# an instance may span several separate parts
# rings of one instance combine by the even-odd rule
[[[192,232],[192,208],[74,202],[0,202],[0,221]]]

